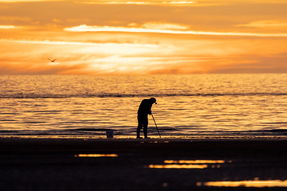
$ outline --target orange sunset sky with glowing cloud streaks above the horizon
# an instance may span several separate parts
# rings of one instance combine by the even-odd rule
[[[287,0],[0,0],[0,75],[287,73],[286,10]]]

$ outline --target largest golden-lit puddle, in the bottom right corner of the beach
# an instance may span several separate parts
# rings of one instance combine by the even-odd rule
[[[287,180],[244,180],[244,181],[218,181],[218,182],[201,182],[196,183],[197,186],[219,186],[219,187],[287,187]]]

